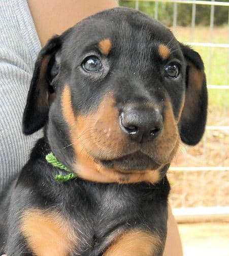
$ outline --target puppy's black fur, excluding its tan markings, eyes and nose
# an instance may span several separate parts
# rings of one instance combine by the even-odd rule
[[[112,42],[108,56],[103,56],[97,47],[104,38]],[[160,44],[170,49],[169,59],[161,60]],[[87,54],[99,55],[104,66],[102,73],[88,74],[82,70],[81,64]],[[174,62],[179,63],[180,75],[178,78],[167,77],[164,67]],[[177,42],[172,33],[156,20],[127,8],[93,15],[47,43],[35,65],[23,116],[25,134],[45,126],[45,137],[38,140],[19,177],[1,197],[0,253],[7,253],[7,256],[34,255],[20,231],[20,218],[25,210],[36,208],[55,209],[73,227],[75,223],[80,225],[81,242],[69,255],[102,255],[111,243],[109,236],[134,228],[159,236],[161,246],[154,255],[162,255],[167,234],[170,185],[166,172],[170,162],[157,163],[163,166],[157,184],[99,183],[81,178],[60,183],[54,180],[54,175],[65,172],[52,167],[45,156],[52,151],[64,165],[73,169],[74,148],[61,106],[61,94],[66,84],[71,89],[75,117],[96,112],[109,92],[112,92],[116,102],[114,107],[119,113],[132,104],[151,103],[160,109],[160,115],[165,119],[168,111],[165,102],[169,100],[174,118],[178,120],[181,115],[178,123],[181,139],[189,145],[198,143],[206,123],[206,80],[202,81],[201,91],[193,90],[191,97],[198,97],[198,104],[191,106],[190,117],[184,117],[182,99],[185,94],[187,97],[187,88],[195,87],[195,84],[188,84],[188,63],[204,76],[204,65],[197,52]],[[168,137],[168,143],[169,140]],[[109,139],[108,143],[111,147],[115,145]],[[136,145],[130,139],[123,152],[131,155]],[[161,147],[166,153],[167,145]],[[140,158],[144,153],[150,159],[157,159],[159,156],[153,155],[154,140],[142,143],[140,151],[135,154],[135,165],[144,172],[146,167],[152,166],[138,156]],[[108,169],[117,162],[117,159],[93,157]],[[133,159],[130,157],[120,166],[128,169],[133,166],[131,164]]]

